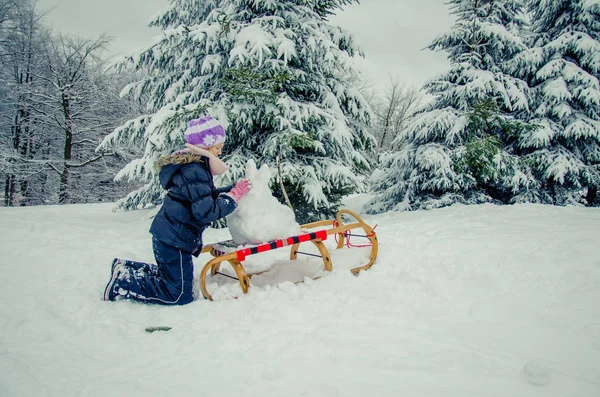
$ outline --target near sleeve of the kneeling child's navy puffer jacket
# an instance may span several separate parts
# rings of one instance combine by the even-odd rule
[[[211,223],[231,214],[236,202],[227,195],[213,197],[211,175],[201,167],[186,169],[180,173],[181,193],[191,203],[192,216],[200,223]]]

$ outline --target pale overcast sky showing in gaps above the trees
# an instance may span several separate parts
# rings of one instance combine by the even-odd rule
[[[141,49],[160,34],[147,27],[167,0],[39,0],[51,9],[55,29],[83,37],[113,37],[112,54]],[[357,61],[369,81],[385,86],[393,78],[420,87],[448,67],[442,52],[423,50],[453,24],[445,0],[362,0],[346,6],[331,23],[350,31],[365,53]]]

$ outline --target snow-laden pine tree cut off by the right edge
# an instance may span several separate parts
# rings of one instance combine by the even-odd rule
[[[530,0],[533,39],[512,62],[532,90],[529,120],[542,126],[519,147],[542,202],[599,205],[600,1]]]

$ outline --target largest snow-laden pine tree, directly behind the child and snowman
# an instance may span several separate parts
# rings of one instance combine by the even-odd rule
[[[102,144],[145,145],[117,178],[147,184],[120,206],[160,199],[156,158],[182,147],[187,120],[210,114],[228,133],[221,183],[243,176],[249,159],[276,169],[279,156],[297,220],[331,216],[344,194],[363,186],[374,145],[369,107],[351,83],[359,50],[326,20],[354,1],[172,0],[153,22],[160,39],[131,59],[151,74],[125,93],[149,96],[148,112]]]

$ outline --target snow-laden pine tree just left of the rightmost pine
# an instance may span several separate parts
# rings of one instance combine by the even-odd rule
[[[522,199],[534,182],[512,154],[528,128],[513,113],[528,108],[527,85],[504,68],[526,49],[520,0],[452,0],[456,23],[428,47],[448,53],[450,70],[425,85],[433,96],[409,122],[374,173],[370,213],[456,202]]]

